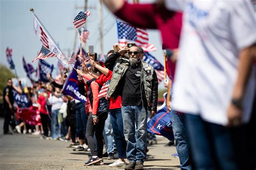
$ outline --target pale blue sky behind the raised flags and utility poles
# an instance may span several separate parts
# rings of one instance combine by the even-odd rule
[[[94,45],[94,51],[99,52],[98,45],[98,2],[89,0],[88,6],[91,16],[86,21],[86,28],[90,31],[87,45]],[[140,1],[142,3],[152,1]],[[84,0],[0,0],[0,63],[7,65],[5,49],[7,46],[13,49],[12,59],[16,65],[18,77],[25,78],[22,66],[22,56],[26,62],[31,62],[37,56],[42,43],[33,29],[33,15],[30,8],[35,10],[36,15],[49,31],[60,49],[68,57],[68,50],[72,52],[74,43],[73,18],[83,11],[75,9],[83,6]],[[91,9],[90,9],[91,7]],[[117,43],[116,18],[103,5],[103,33],[104,53],[112,49]],[[150,43],[154,44],[158,51],[151,54],[158,58],[161,64],[164,59],[161,51],[161,38],[159,31],[148,30]],[[78,45],[78,42],[77,42]],[[77,46],[78,48],[78,46]],[[47,59],[47,62],[57,64],[56,58]],[[37,61],[32,63],[37,66]],[[53,75],[56,71],[53,72]],[[161,83],[160,87],[163,87]]]

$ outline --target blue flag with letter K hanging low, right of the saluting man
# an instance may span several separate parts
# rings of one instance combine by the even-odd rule
[[[167,93],[164,94],[165,103],[158,108],[157,114],[147,121],[147,132],[162,135],[169,140],[174,140],[171,112],[169,112],[166,107],[166,94]]]

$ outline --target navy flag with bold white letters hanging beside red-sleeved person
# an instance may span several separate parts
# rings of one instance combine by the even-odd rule
[[[77,60],[75,63],[75,69],[80,65],[80,62]],[[77,79],[77,72],[76,70],[73,69],[71,73],[69,74],[69,77],[66,79],[64,86],[63,86],[63,91],[62,93],[64,95],[71,96],[77,100],[80,100],[82,102],[86,102],[86,97],[83,94],[80,94],[78,91],[78,79]]]

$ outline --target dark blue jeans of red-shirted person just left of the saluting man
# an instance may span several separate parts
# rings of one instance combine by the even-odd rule
[[[126,141],[124,138],[124,124],[121,108],[110,110],[110,120],[113,133],[116,135],[118,158],[126,158]]]

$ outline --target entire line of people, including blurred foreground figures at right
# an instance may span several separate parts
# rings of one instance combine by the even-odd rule
[[[171,58],[172,76],[166,104],[172,115],[180,168],[255,169],[256,21],[252,3],[103,2],[114,15],[134,26],[159,29],[163,46],[169,49],[166,54]],[[79,146],[74,150],[90,150],[87,166],[104,164],[105,141],[110,159],[118,152],[118,160],[110,167],[143,169],[147,118],[156,114],[158,99],[156,72],[142,60],[143,53],[133,44],[110,50],[103,63],[88,52],[89,62],[81,60],[82,69],[76,69],[79,92],[87,98],[86,103],[62,95],[66,73],[62,83],[49,74],[50,83],[28,90],[31,102],[38,105],[43,127],[36,126],[35,133],[44,132],[44,139],[70,138],[70,147],[78,137]],[[109,83],[106,97],[99,98],[105,83]],[[11,93],[9,79],[4,91],[5,112],[13,109]],[[11,115],[6,115],[5,134],[10,133],[10,119]],[[24,123],[16,126],[18,132],[21,126]],[[244,139],[246,146],[238,139]]]

